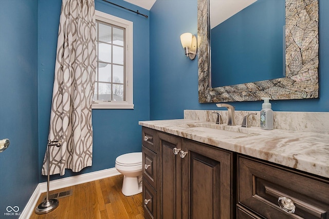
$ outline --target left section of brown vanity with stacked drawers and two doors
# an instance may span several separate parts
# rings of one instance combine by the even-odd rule
[[[160,167],[155,175],[149,166],[143,170],[145,218],[233,218],[231,152],[160,131],[152,134],[157,149],[150,151],[144,146],[150,130],[142,129],[143,165]]]

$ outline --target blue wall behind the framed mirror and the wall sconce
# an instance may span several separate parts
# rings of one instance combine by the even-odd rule
[[[329,1],[319,0],[320,98],[271,101],[273,110],[329,111],[328,10]],[[150,14],[151,120],[182,118],[184,109],[218,109],[214,103],[198,103],[197,60],[184,56],[179,40],[181,33],[197,33],[197,0],[157,0]],[[236,110],[260,110],[261,103],[231,104]]]

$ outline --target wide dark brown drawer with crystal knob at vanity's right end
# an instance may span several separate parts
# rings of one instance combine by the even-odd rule
[[[329,218],[328,181],[242,156],[238,165],[239,204],[266,218]],[[295,212],[283,210],[279,197]]]

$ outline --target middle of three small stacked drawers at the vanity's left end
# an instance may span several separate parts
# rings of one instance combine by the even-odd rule
[[[156,154],[146,147],[143,152],[143,180],[147,180],[153,188],[157,188],[157,160]]]

